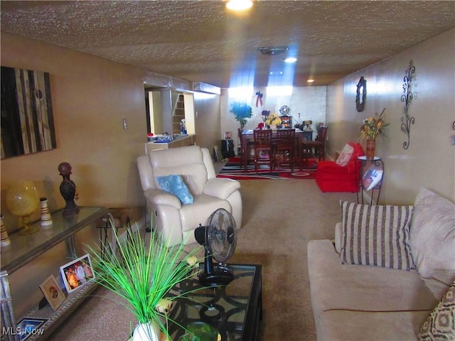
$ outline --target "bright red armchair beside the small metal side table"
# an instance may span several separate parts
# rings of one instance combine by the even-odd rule
[[[364,156],[362,146],[349,142],[353,147],[346,166],[339,166],[336,161],[320,161],[316,172],[316,183],[322,192],[353,192],[359,190],[360,164],[357,159]]]

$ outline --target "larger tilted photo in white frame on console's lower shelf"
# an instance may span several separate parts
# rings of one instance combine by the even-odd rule
[[[65,283],[65,288],[68,293],[93,281],[95,279],[95,274],[93,272],[90,255],[85,254],[85,256],[60,266],[60,274],[62,275],[63,283]]]

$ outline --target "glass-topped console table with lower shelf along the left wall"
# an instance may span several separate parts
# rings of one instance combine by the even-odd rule
[[[79,208],[80,212],[73,217],[63,217],[63,209],[53,212],[51,214],[53,224],[45,229],[41,227],[41,222],[39,220],[33,222],[31,226],[33,227],[33,225],[36,225],[39,227],[38,232],[27,236],[21,236],[16,231],[9,236],[11,244],[8,247],[1,248],[0,303],[2,327],[3,330],[8,330],[8,332],[5,332],[6,340],[19,340],[19,335],[16,335],[15,333],[17,320],[14,315],[8,275],[21,269],[22,266],[33,261],[33,259],[36,259],[36,257],[40,256],[45,251],[48,251],[63,241],[66,242],[68,256],[71,259],[76,259],[77,254],[74,234],[101,217],[109,215],[109,211],[105,207]],[[53,330],[55,330],[55,328],[57,328],[58,325],[75,310],[75,308],[77,308],[77,305],[79,305],[95,287],[95,281],[91,281],[80,289],[71,292],[56,311],[50,308],[50,305],[46,305],[44,308],[39,309],[37,304],[23,317],[46,318],[48,321],[40,327],[43,330],[41,335],[31,335],[27,340],[41,340],[48,337],[48,335],[50,335],[50,333],[53,332]],[[3,330],[2,334],[4,334]]]

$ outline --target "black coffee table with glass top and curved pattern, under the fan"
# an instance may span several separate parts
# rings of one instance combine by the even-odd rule
[[[260,265],[228,264],[235,279],[227,286],[202,288],[197,276],[174,288],[176,298],[169,318],[171,340],[179,340],[188,325],[208,323],[218,330],[222,341],[257,340],[262,318],[262,279]],[[203,271],[203,264],[200,265]],[[202,288],[202,289],[201,289]]]

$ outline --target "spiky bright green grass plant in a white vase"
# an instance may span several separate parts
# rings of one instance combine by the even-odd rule
[[[113,227],[113,222],[110,222]],[[111,252],[102,252],[101,247],[87,246],[91,257],[97,283],[127,301],[127,308],[139,323],[158,326],[169,339],[167,316],[155,308],[171,288],[195,274],[191,271],[199,247],[187,253],[184,242],[173,247],[165,247],[155,232],[148,239],[139,232],[130,232],[122,238],[112,228]],[[114,244],[116,247],[114,247]],[[166,297],[173,301],[178,295]],[[149,340],[154,340],[149,332]]]

